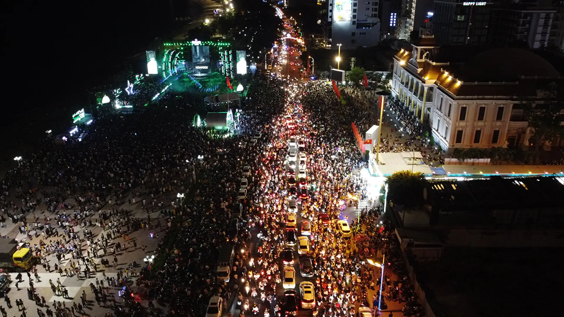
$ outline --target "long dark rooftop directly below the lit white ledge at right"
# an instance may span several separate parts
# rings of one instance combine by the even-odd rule
[[[472,180],[430,180],[428,190],[444,206],[472,206],[484,211],[511,208],[564,208],[564,185],[556,176]]]

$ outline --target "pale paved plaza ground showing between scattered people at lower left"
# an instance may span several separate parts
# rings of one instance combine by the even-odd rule
[[[69,199],[67,202],[72,203],[72,201],[73,199]],[[43,219],[46,215],[50,215],[51,218],[53,218],[51,213],[45,212],[45,209],[42,208],[45,207],[40,205],[39,208],[36,209],[36,212],[27,215],[28,223],[34,222],[34,214],[39,216],[39,223],[45,223]],[[116,209],[120,210],[122,208],[129,212],[130,217],[143,219],[144,222],[147,222],[147,212],[141,210],[140,204],[129,205],[127,199],[125,199],[125,203],[123,205],[116,207]],[[111,206],[106,205],[102,210],[106,210],[108,212],[111,209]],[[70,211],[72,211],[72,209]],[[46,257],[46,261],[44,262],[46,264],[49,264],[48,268],[50,268],[50,271],[47,271],[46,268],[44,268],[42,265],[36,265],[38,278],[34,276],[33,271],[30,271],[30,278],[28,277],[28,274],[26,272],[23,272],[21,274],[21,282],[19,283],[19,285],[17,285],[17,287],[16,277],[18,274],[16,272],[9,273],[12,281],[10,283],[10,290],[7,293],[7,297],[9,298],[12,307],[8,307],[6,298],[0,300],[0,305],[3,307],[3,309],[6,310],[7,316],[23,316],[24,314],[27,316],[38,316],[39,312],[37,311],[37,309],[43,312],[45,312],[47,308],[55,311],[53,305],[55,301],[63,302],[64,307],[70,308],[73,306],[73,303],[76,303],[77,305],[79,303],[82,303],[81,296],[83,293],[86,294],[86,305],[83,309],[84,312],[81,312],[80,314],[79,312],[75,312],[77,316],[104,316],[105,314],[107,314],[107,312],[113,311],[112,307],[114,303],[120,305],[123,302],[122,298],[118,296],[118,291],[121,290],[122,287],[120,285],[116,287],[108,285],[108,279],[116,279],[119,272],[123,276],[130,276],[134,280],[136,276],[139,276],[142,267],[145,266],[143,258],[154,254],[158,240],[160,239],[160,237],[164,236],[164,230],[166,229],[165,221],[162,218],[157,220],[158,213],[151,213],[150,216],[153,226],[156,226],[156,223],[158,221],[161,224],[161,228],[157,227],[148,229],[147,227],[145,227],[134,232],[129,232],[129,235],[127,235],[129,237],[129,247],[127,247],[127,242],[124,241],[127,238],[124,239],[122,236],[116,237],[116,239],[112,240],[112,244],[108,245],[108,247],[110,248],[112,248],[113,245],[118,242],[120,242],[122,245],[125,245],[124,249],[116,252],[118,263],[115,267],[113,267],[112,265],[110,267],[104,267],[102,265],[102,259],[107,259],[110,263],[113,262],[113,256],[111,254],[108,253],[106,256],[103,256],[103,251],[99,250],[100,256],[94,257],[92,251],[89,250],[89,246],[87,246],[86,240],[81,240],[82,253],[86,257],[87,253],[90,251],[90,258],[94,261],[94,263],[96,263],[96,272],[91,272],[89,278],[85,278],[83,272],[80,272],[80,275],[73,273],[73,265],[77,266],[81,264],[79,262],[82,261],[80,259],[73,259],[70,253],[65,254],[64,258],[60,259],[60,262],[54,255],[48,255]],[[95,222],[95,220],[98,219],[98,214],[94,214],[90,219],[92,219],[92,222]],[[50,224],[53,228],[58,228],[58,224],[56,224],[54,220],[51,220]],[[92,232],[92,235],[94,235],[94,238],[92,239],[93,241],[96,241],[102,234],[104,234],[104,236],[107,235],[110,231],[109,228],[103,230],[102,227],[98,226],[86,228],[82,228],[81,226],[74,226],[73,228],[74,232],[78,233],[78,235],[81,237],[83,237],[83,231],[90,230]],[[112,230],[114,229],[115,228],[113,228]],[[49,244],[50,241],[55,240],[63,241],[63,243],[68,241],[67,236],[62,234],[63,229],[61,228],[58,231],[59,237],[50,237],[48,239],[45,239],[44,241],[47,244]],[[153,233],[153,237],[151,237],[151,233]],[[6,221],[5,228],[0,228],[0,234],[11,239],[15,238],[17,241],[28,241],[28,236],[21,234],[17,228],[17,224],[12,223],[11,219],[8,219]],[[42,237],[41,232],[39,232],[38,237],[32,237],[32,239],[29,241],[30,245],[32,245],[32,247],[36,244],[39,245],[39,241],[41,239],[44,238]],[[136,248],[134,247],[134,244],[136,244]],[[142,246],[145,246],[144,251],[142,249]],[[128,269],[127,266],[134,261],[138,263],[139,266],[134,269]],[[55,264],[63,269],[63,274],[59,274],[59,272],[56,272],[54,270]],[[67,269],[70,276],[67,276],[65,274],[65,269]],[[36,289],[36,293],[39,298],[45,298],[46,306],[37,305],[34,300],[29,298],[28,288],[30,287],[30,279],[32,280],[33,287]],[[59,288],[61,290],[65,289],[68,292],[67,296],[62,296],[63,294],[56,294],[58,293],[58,290],[55,290],[54,293],[51,288],[50,281],[55,285],[55,287],[60,285]],[[95,295],[90,287],[91,284],[96,286],[100,284],[100,287],[106,289],[108,296],[105,303],[103,301],[100,302],[100,305],[96,303]],[[135,283],[133,283],[132,289],[134,292],[138,291],[138,289],[135,287]],[[21,310],[16,306],[17,299],[23,301],[25,312],[24,310]],[[142,300],[141,303],[145,307],[148,306],[147,300]]]

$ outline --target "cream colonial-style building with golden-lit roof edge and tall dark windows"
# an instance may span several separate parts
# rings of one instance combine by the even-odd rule
[[[440,48],[429,33],[412,47],[394,56],[392,94],[429,123],[443,151],[531,145],[523,101],[542,100],[540,88],[559,80],[547,60],[523,49]]]

